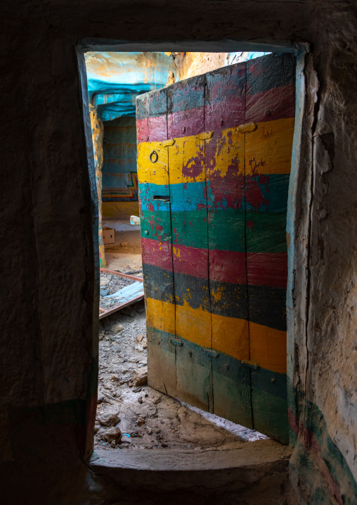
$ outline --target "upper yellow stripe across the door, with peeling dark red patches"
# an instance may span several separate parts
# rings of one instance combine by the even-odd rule
[[[142,142],[138,145],[138,181],[153,184],[182,184],[202,182],[219,172],[226,177],[228,167],[237,164],[237,176],[243,174],[290,174],[294,117],[261,122],[254,132],[239,133],[237,128],[224,129],[218,136],[200,139],[186,136],[173,139],[174,144],[163,147],[162,142]],[[205,145],[215,149],[215,162],[206,167]],[[156,151],[158,160],[152,163],[150,153]],[[168,173],[168,164],[170,173]]]

